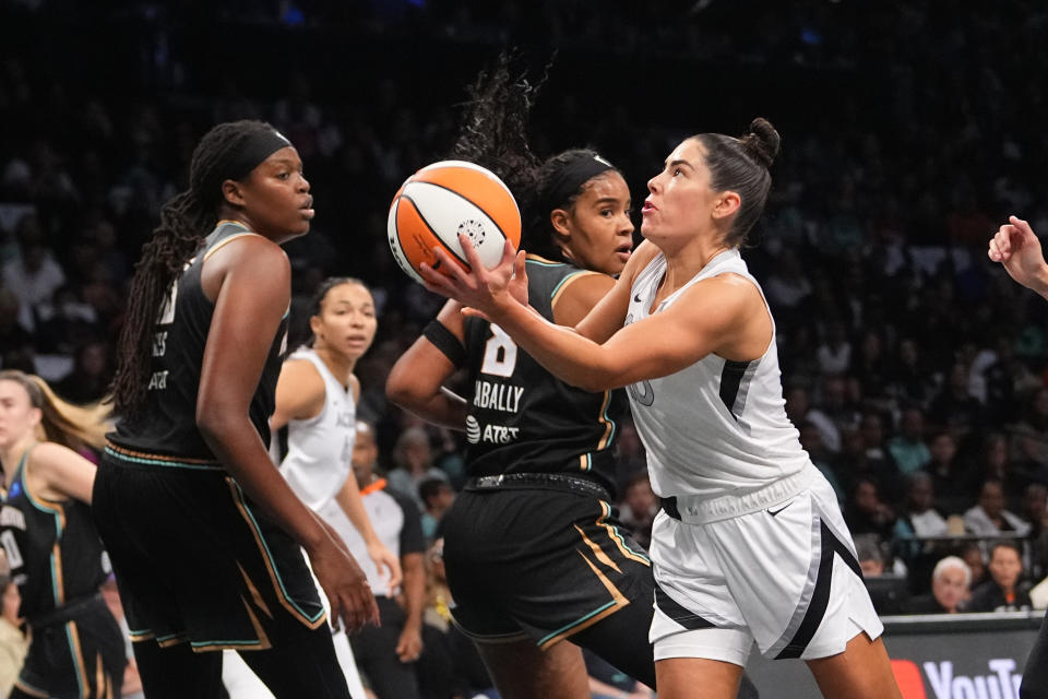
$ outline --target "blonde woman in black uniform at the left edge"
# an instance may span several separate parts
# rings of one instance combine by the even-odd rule
[[[108,571],[91,519],[100,408],[58,399],[38,377],[0,371],[3,544],[22,596],[31,645],[11,696],[119,697],[127,657],[99,588]]]

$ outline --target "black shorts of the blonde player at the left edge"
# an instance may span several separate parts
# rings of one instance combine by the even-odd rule
[[[119,697],[127,650],[102,595],[76,602],[68,621],[37,626],[14,683],[32,697]]]

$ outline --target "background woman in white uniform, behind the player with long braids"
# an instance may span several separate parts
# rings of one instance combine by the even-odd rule
[[[379,570],[389,571],[391,588],[395,588],[401,579],[400,561],[374,533],[356,478],[349,477],[360,395],[360,382],[353,370],[371,346],[378,327],[371,292],[358,280],[325,280],[313,297],[309,325],[311,342],[285,360],[276,384],[270,428],[276,434],[287,426],[287,454],[281,461],[281,473],[295,495],[329,523],[348,519],[367,542],[368,554]],[[333,641],[350,694],[362,697],[348,639],[340,631]],[[253,684],[250,678],[242,679],[241,673],[236,677],[231,674],[226,673],[230,685]],[[247,699],[245,694],[234,694],[234,699]]]

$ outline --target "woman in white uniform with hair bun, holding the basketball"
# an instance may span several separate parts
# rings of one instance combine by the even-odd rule
[[[646,238],[574,330],[528,310],[523,256],[431,291],[505,330],[559,378],[629,387],[663,511],[652,534],[658,696],[733,697],[753,641],[808,662],[826,697],[900,697],[833,490],[782,396],[775,325],[738,247],[767,198],[778,133],[684,140],[648,181]],[[513,276],[517,277],[513,281]],[[512,282],[512,283],[511,283]]]

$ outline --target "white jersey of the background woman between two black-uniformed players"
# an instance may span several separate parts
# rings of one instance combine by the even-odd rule
[[[287,424],[287,455],[281,462],[281,473],[295,495],[319,512],[349,476],[357,408],[353,390],[342,386],[314,350],[302,347],[288,359],[312,363],[324,380],[323,408],[315,417]]]

